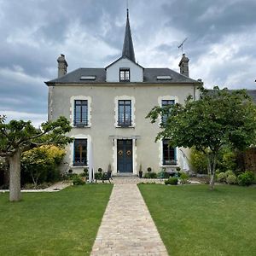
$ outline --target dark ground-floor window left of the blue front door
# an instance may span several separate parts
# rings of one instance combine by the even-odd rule
[[[87,166],[87,139],[75,139],[73,151],[73,165]]]

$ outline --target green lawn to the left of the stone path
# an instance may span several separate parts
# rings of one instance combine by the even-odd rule
[[[90,255],[112,190],[110,184],[55,193],[0,194],[0,255]]]

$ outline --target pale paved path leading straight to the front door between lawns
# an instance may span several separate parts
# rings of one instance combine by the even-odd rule
[[[135,183],[114,184],[90,255],[168,255]]]

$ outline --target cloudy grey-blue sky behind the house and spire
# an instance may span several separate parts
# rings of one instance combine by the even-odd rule
[[[137,61],[178,71],[184,38],[190,76],[205,86],[255,89],[255,0],[129,0]],[[126,0],[0,0],[0,114],[47,119],[56,58],[68,71],[106,67],[121,54]]]

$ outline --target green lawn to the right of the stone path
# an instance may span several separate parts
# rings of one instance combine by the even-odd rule
[[[256,255],[256,187],[139,185],[170,255]]]

